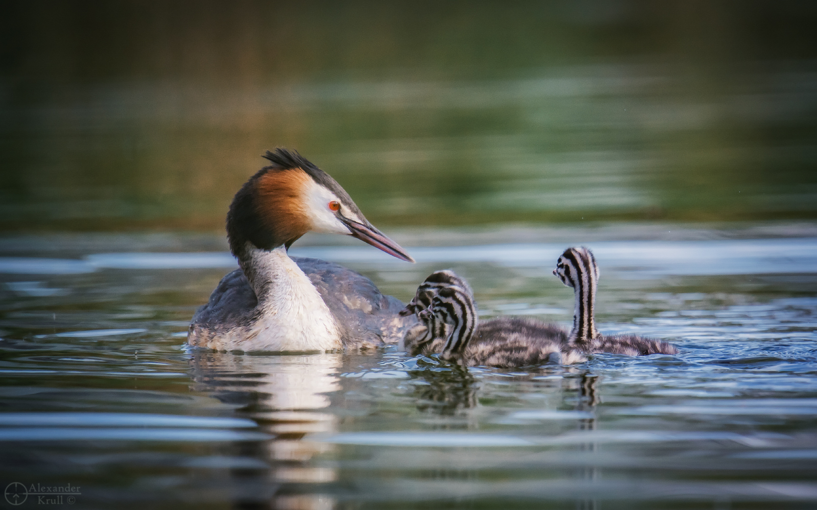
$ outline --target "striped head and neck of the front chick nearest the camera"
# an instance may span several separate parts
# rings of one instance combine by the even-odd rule
[[[421,318],[424,316],[450,326],[440,357],[444,360],[462,359],[478,322],[476,302],[471,292],[458,286],[440,289],[431,299],[431,308],[420,313]]]

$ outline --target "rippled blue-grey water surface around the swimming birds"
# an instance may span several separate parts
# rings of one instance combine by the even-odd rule
[[[2,480],[70,483],[81,508],[812,508],[817,240],[686,232],[585,243],[600,329],[678,355],[467,371],[396,348],[185,348],[194,308],[234,264],[207,250],[219,240],[10,239]],[[409,248],[416,265],[368,246],[293,252],[404,300],[453,267],[482,317],[569,322],[572,293],[550,274],[567,243],[460,235]]]

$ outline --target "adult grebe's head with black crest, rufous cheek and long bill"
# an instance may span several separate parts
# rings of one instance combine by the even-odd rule
[[[248,242],[261,250],[288,248],[311,230],[357,237],[398,259],[414,262],[366,220],[340,184],[301,154],[275,149],[264,157],[272,164],[244,183],[227,214],[230,251],[239,260]]]

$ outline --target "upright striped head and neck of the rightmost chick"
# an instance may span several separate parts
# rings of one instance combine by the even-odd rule
[[[556,262],[553,270],[562,283],[573,287],[576,304],[573,313],[571,342],[587,342],[600,337],[596,330],[596,287],[599,282],[599,266],[596,257],[587,248],[568,248]]]

